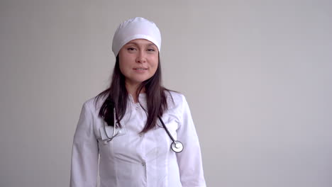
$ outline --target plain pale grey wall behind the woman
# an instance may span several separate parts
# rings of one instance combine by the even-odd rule
[[[332,186],[331,1],[0,3],[0,186],[69,186],[84,101],[111,40],[162,32],[165,86],[187,96],[208,186]]]

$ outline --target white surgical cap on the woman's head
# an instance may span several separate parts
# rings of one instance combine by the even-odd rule
[[[152,21],[136,17],[124,21],[116,29],[112,44],[114,55],[117,56],[123,45],[135,39],[146,39],[153,42],[160,52],[161,35],[159,28]]]

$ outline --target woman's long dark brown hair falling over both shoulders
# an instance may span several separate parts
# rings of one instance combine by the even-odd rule
[[[108,89],[102,91],[95,98],[95,104],[101,97],[107,96],[104,103],[101,105],[99,111],[99,117],[104,118],[107,125],[121,127],[121,119],[126,113],[128,102],[128,91],[126,89],[125,79],[126,77],[121,73],[119,58],[116,56],[116,64],[114,66],[113,75],[111,79],[111,86]],[[142,89],[145,89],[147,108],[143,108],[148,115],[148,120],[145,127],[141,132],[148,132],[157,124],[158,116],[167,111],[167,98],[165,91],[170,91],[162,86],[162,74],[160,67],[160,56],[158,55],[158,67],[153,75],[148,80],[143,81],[136,94],[138,95]],[[140,102],[140,101],[138,101]],[[142,106],[142,105],[141,105]],[[114,116],[114,109],[116,115]],[[116,118],[116,124],[114,124],[114,117]]]

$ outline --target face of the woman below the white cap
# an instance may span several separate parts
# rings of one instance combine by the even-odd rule
[[[118,52],[121,73],[127,86],[137,86],[153,77],[158,67],[158,48],[145,39],[131,40]]]

